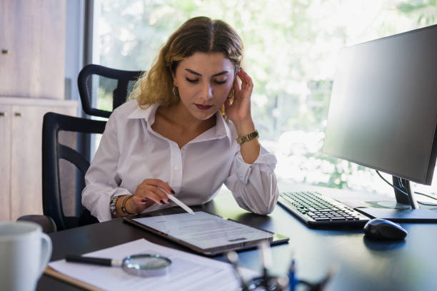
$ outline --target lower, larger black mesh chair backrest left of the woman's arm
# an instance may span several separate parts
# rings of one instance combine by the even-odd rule
[[[78,226],[81,191],[89,168],[89,148],[84,138],[104,132],[106,121],[46,113],[42,137],[43,213],[53,218],[57,230]]]

